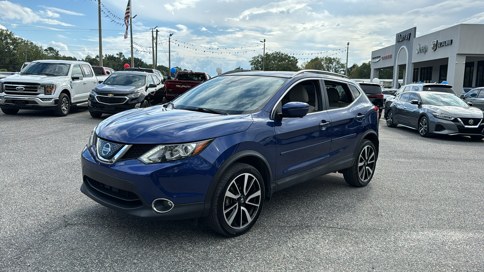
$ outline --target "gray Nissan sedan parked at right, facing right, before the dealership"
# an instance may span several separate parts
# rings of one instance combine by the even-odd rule
[[[484,112],[452,93],[409,91],[388,103],[385,119],[389,127],[413,128],[423,137],[445,134],[484,138]]]

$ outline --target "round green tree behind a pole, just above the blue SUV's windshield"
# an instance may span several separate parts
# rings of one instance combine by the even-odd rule
[[[252,70],[262,70],[262,54],[254,56],[250,61]],[[298,59],[281,51],[265,55],[266,71],[299,71]]]

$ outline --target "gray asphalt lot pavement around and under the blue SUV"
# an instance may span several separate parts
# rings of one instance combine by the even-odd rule
[[[101,120],[0,112],[1,271],[484,271],[484,140],[381,120],[368,186],[333,173],[290,187],[228,238],[84,196],[80,152]]]

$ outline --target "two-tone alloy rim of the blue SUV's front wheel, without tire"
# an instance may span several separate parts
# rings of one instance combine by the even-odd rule
[[[227,225],[234,229],[241,229],[250,224],[257,215],[260,200],[260,185],[254,175],[243,173],[230,181],[223,205]]]

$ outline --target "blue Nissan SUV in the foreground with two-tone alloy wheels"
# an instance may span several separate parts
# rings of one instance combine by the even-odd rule
[[[347,76],[230,71],[102,121],[82,151],[81,191],[146,219],[207,217],[236,236],[275,192],[336,171],[365,186],[377,158],[378,107]]]

